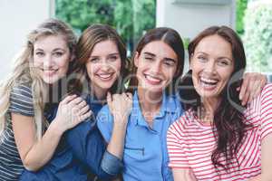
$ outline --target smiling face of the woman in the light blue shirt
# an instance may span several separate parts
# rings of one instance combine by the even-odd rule
[[[154,41],[136,54],[134,63],[139,86],[144,90],[161,92],[174,78],[178,56],[168,44]]]

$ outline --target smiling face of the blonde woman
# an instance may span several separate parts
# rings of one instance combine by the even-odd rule
[[[62,35],[44,36],[34,43],[34,67],[48,84],[66,75],[70,60],[71,54]]]

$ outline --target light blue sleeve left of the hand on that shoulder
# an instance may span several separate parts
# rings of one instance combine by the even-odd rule
[[[102,133],[103,138],[109,143],[112,138],[113,117],[108,105],[105,105],[102,110],[98,112],[96,120],[97,127]]]

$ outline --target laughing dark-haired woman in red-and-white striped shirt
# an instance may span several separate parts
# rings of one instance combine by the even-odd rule
[[[242,106],[237,87],[246,67],[243,44],[226,26],[189,43],[191,70],[180,91],[184,115],[167,135],[175,180],[269,180],[272,85]]]

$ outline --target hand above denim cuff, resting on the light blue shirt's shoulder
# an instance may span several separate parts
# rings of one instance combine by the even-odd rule
[[[131,114],[132,95],[131,93],[107,94],[107,102],[114,118],[114,123],[127,123]],[[116,122],[117,121],[117,122]]]

